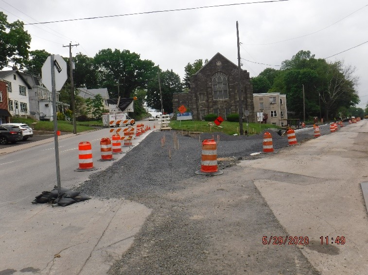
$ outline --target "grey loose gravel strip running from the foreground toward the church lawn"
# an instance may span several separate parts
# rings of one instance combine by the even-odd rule
[[[288,145],[286,135],[269,132],[275,150]],[[321,127],[322,135],[329,132],[328,125]],[[298,142],[311,139],[313,129],[297,131],[296,136]],[[262,151],[263,133],[155,131],[77,188],[89,196],[123,197],[153,209],[109,274],[318,274],[296,246],[284,246],[285,255],[280,255],[279,248],[251,239],[259,232],[286,235],[252,182],[228,184],[194,174],[200,169],[202,141],[212,138],[219,141],[219,169],[235,173],[240,160],[267,157],[250,156]]]

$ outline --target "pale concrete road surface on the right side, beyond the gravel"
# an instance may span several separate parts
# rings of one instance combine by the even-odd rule
[[[272,173],[251,180],[288,236],[309,238],[302,253],[322,275],[368,274],[360,187],[368,178],[368,121],[240,165],[245,175]],[[345,244],[335,243],[342,236]]]

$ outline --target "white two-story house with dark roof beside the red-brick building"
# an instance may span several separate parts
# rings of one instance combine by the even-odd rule
[[[27,83],[20,72],[17,69],[0,71],[0,80],[8,84],[9,113],[11,115],[30,115],[28,94],[32,87]]]

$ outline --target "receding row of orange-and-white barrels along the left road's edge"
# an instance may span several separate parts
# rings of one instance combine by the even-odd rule
[[[135,136],[140,136],[151,129],[149,126],[144,126],[143,124],[138,124],[136,134],[134,134],[135,129],[128,127],[123,129],[123,136],[119,134],[121,129],[115,130],[115,134],[110,138],[102,138],[100,141],[101,147],[101,159],[100,162],[114,161],[114,154],[122,154],[124,153],[122,150],[123,147],[131,147],[132,140]],[[122,145],[123,141],[123,145]],[[78,145],[78,159],[79,159],[79,167],[75,169],[75,171],[93,171],[98,168],[93,166],[93,157],[92,157],[92,145],[88,142],[80,142]]]

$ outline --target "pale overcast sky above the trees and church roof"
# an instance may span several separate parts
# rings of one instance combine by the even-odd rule
[[[248,4],[198,8],[236,3]],[[149,13],[189,8],[198,9]],[[181,79],[185,65],[217,52],[238,64],[238,21],[240,55],[247,60],[242,60],[242,68],[251,77],[266,67],[280,68],[277,65],[299,50],[310,50],[315,58],[344,51],[327,60],[356,67],[361,99],[357,107],[364,109],[368,102],[366,0],[0,0],[0,10],[9,22],[19,19],[25,24],[114,16],[25,29],[32,36],[31,50],[69,56],[63,46],[71,42],[79,43],[72,48],[73,56],[81,52],[94,57],[101,49],[128,49],[162,70],[172,69]]]

